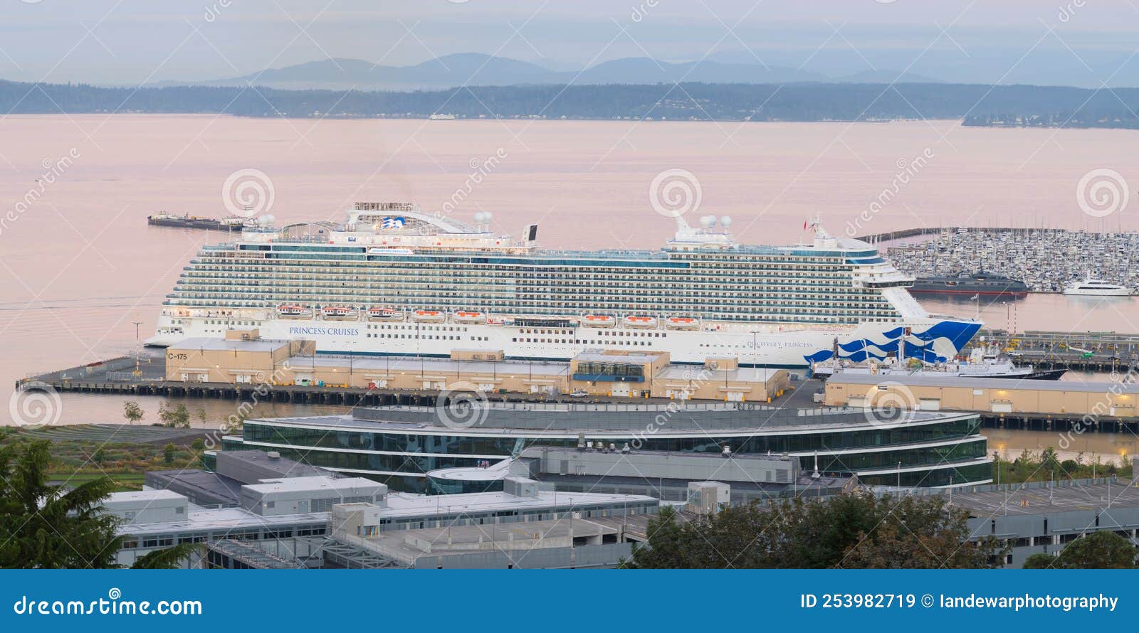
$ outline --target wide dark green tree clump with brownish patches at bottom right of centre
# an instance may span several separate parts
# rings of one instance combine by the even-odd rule
[[[970,541],[968,513],[941,495],[849,493],[734,505],[681,521],[665,510],[629,568],[984,568],[1003,553]]]

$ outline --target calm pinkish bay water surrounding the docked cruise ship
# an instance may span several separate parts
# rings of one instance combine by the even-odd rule
[[[803,222],[816,216],[836,235],[854,223],[860,233],[959,224],[1139,229],[1134,205],[1095,219],[1074,195],[1092,168],[1132,175],[1139,133],[1124,130],[59,115],[2,117],[0,138],[0,404],[17,378],[129,353],[136,331],[146,338],[182,266],[203,244],[223,239],[150,228],[146,216],[224,215],[222,186],[243,168],[271,181],[268,213],[278,222],[338,221],[355,200],[409,200],[426,211],[451,203],[462,221],[493,212],[500,232],[519,235],[538,222],[539,240],[554,248],[659,247],[674,223],[654,211],[649,187],[665,170],[686,170],[698,183],[690,221],[732,216],[743,242],[806,240]],[[917,156],[929,158],[899,186],[899,165]],[[858,220],[884,189],[890,202]],[[964,316],[976,310],[926,305]],[[1139,298],[1034,295],[984,306],[981,316],[1022,330],[1139,331]],[[62,402],[59,424],[122,419],[120,397]],[[157,400],[141,404],[154,420]],[[205,409],[210,425],[232,411],[228,402],[188,404]],[[335,409],[277,404],[256,414],[313,410]],[[1047,445],[1029,434],[1001,442],[1009,450]],[[1106,436],[1090,442],[1104,453],[1120,450]]]

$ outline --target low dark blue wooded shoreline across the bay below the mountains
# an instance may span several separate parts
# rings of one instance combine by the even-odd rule
[[[179,85],[99,88],[0,81],[9,114],[230,114],[268,118],[887,123],[1139,129],[1139,89],[941,83],[657,83],[461,87],[431,91]],[[453,116],[454,118],[450,118]]]

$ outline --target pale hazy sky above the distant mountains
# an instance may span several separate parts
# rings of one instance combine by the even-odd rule
[[[560,69],[710,56],[1099,85],[1139,47],[1139,0],[0,0],[0,77],[104,84],[485,52]]]

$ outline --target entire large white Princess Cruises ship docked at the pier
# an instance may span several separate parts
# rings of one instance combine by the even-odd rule
[[[148,345],[260,329],[320,352],[448,356],[501,350],[570,360],[590,348],[805,368],[835,357],[943,362],[981,322],[927,314],[870,245],[816,223],[797,246],[745,246],[730,217],[677,219],[659,250],[550,250],[538,225],[495,235],[407,203],[357,203],[343,225],[267,222],[204,247]]]

